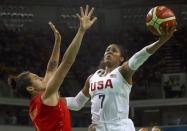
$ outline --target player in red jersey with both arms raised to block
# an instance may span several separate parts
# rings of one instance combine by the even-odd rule
[[[80,8],[80,27],[70,46],[67,48],[62,62],[58,66],[61,36],[55,26],[49,25],[55,34],[55,45],[49,60],[44,78],[29,71],[10,78],[9,83],[20,96],[31,96],[29,114],[36,131],[71,131],[70,114],[63,100],[60,99],[58,90],[75,61],[83,36],[96,17],[92,16],[94,8],[89,10]],[[91,19],[92,17],[92,19]]]

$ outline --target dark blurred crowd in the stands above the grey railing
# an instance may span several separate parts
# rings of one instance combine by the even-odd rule
[[[186,27],[175,33],[174,37],[155,55],[153,55],[135,74],[132,99],[162,98],[161,76],[167,73],[165,52],[167,46],[175,46],[173,52],[179,56],[181,70],[186,73]],[[75,30],[62,32],[61,56],[75,35]],[[142,47],[156,41],[150,32],[134,29],[119,32],[87,32],[77,59],[65,79],[61,93],[64,96],[74,96],[82,89],[86,78],[97,70],[107,45],[117,43],[125,49],[127,59]],[[44,75],[50,53],[53,48],[54,36],[50,30],[16,31],[5,27],[0,29],[0,96],[16,97],[7,85],[9,75],[15,75],[24,70]],[[173,57],[175,59],[175,57]],[[153,91],[154,87],[157,91]],[[185,85],[184,87],[185,88]],[[167,91],[167,90],[166,90]],[[182,97],[182,96],[180,96]]]

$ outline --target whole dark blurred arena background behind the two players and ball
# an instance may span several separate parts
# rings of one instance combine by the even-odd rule
[[[51,20],[62,35],[61,56],[79,26],[79,7],[95,7],[96,24],[86,33],[76,62],[61,86],[62,96],[75,96],[97,70],[107,45],[117,43],[130,57],[156,41],[145,26],[148,11],[166,5],[177,17],[177,32],[134,75],[130,118],[136,127],[187,131],[187,1],[186,0],[1,0],[0,1],[0,131],[33,131],[28,100],[7,85],[9,75],[29,70],[43,76],[54,44]],[[71,112],[75,131],[91,123],[90,103]]]

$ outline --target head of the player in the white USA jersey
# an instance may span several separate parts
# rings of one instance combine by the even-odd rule
[[[122,61],[123,57],[119,47],[115,44],[109,45],[104,54],[104,63],[107,66],[119,66]]]

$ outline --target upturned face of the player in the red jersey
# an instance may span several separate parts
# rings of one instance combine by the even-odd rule
[[[29,77],[31,79],[32,82],[32,86],[35,90],[37,91],[42,91],[45,89],[44,84],[43,84],[43,78],[39,77],[36,74],[30,73]]]

